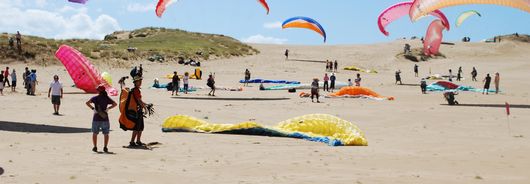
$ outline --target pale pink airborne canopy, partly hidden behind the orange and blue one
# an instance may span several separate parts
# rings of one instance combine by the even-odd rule
[[[401,2],[392,5],[385,9],[383,12],[381,12],[379,18],[377,18],[377,24],[379,25],[379,30],[381,31],[381,33],[388,36],[389,33],[386,31],[385,27],[388,24],[394,22],[395,20],[408,15],[410,8],[412,7],[412,3],[413,2]],[[438,17],[440,20],[442,20],[442,23],[445,25],[445,28],[447,30],[450,29],[449,20],[447,20],[447,17],[440,10],[433,11],[430,13],[430,15]]]

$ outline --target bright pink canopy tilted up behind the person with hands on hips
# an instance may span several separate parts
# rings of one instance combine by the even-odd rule
[[[103,85],[109,95],[118,95],[118,91],[101,78],[94,65],[79,51],[70,46],[61,45],[55,52],[55,57],[66,67],[77,88],[87,93],[98,93],[97,87]]]

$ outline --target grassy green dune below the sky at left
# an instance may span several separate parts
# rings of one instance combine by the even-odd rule
[[[8,39],[12,36],[7,33],[0,35],[0,59],[3,62],[48,63],[54,60],[53,54],[62,44],[75,47],[93,60],[147,60],[153,56],[163,57],[165,61],[176,61],[179,58],[206,60],[259,53],[258,50],[227,36],[166,28],[119,31],[105,36],[104,40],[54,40],[23,36],[20,52],[9,47]]]

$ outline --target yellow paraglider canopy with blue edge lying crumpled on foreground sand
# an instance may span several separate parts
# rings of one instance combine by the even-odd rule
[[[265,127],[256,122],[213,124],[191,116],[176,115],[164,121],[162,131],[290,137],[323,142],[330,146],[368,145],[364,133],[356,125],[327,114],[304,115],[282,121],[274,127]]]

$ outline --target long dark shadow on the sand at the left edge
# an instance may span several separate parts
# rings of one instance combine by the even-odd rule
[[[37,125],[20,122],[0,121],[0,131],[9,132],[27,132],[27,133],[59,133],[59,134],[73,134],[73,133],[88,133],[92,132],[88,128],[75,128],[53,125]]]

